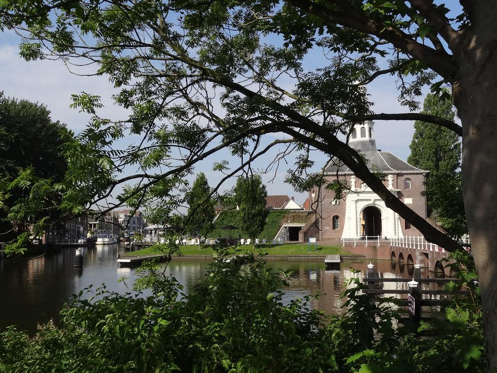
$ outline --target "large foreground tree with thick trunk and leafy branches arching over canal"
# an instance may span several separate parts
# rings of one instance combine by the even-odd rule
[[[21,55],[28,60],[55,56],[97,64],[96,72],[120,90],[116,101],[131,111],[110,122],[97,115],[97,96],[75,96],[74,105],[93,120],[68,150],[80,155],[71,157],[68,180],[73,187],[66,202],[73,210],[133,181],[120,204],[170,196],[167,191],[209,156],[215,170],[226,172],[226,153],[216,157],[223,148],[242,159],[228,178],[286,144],[274,160],[291,149],[300,152],[288,178],[297,188],[325,183],[321,175],[307,174],[310,152],[336,156],[427,240],[452,251],[460,245],[396,198],[338,135],[363,120],[398,119],[435,123],[462,136],[464,203],[493,369],[497,2],[450,6],[432,0],[26,0],[0,2],[0,25],[23,36]],[[323,58],[316,57],[320,51]],[[360,89],[388,74],[397,77],[392,89],[406,113],[373,113]],[[423,86],[440,92],[443,85],[452,89],[462,126],[411,112]],[[116,150],[115,140],[129,132],[144,140],[126,153]],[[271,133],[286,136],[264,141]],[[120,177],[130,163],[140,171]],[[88,173],[81,168],[95,164],[103,175],[83,178]]]

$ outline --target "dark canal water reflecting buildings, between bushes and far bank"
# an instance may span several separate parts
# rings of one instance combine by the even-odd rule
[[[7,258],[0,261],[0,284],[2,306],[0,307],[0,330],[16,325],[30,334],[37,324],[50,319],[58,320],[59,311],[72,296],[92,284],[102,283],[110,291],[124,293],[136,279],[135,270],[118,268],[117,245],[82,248],[83,268],[74,267],[75,248],[63,248],[55,254],[37,259]],[[205,259],[174,258],[167,266],[166,274],[175,277],[186,288],[199,281],[211,261]],[[325,294],[313,301],[313,307],[326,313],[339,313],[347,279],[354,277],[350,268],[365,271],[367,263],[345,261],[340,271],[327,271],[324,261],[268,260],[273,268],[292,270],[290,286],[285,288],[285,300],[302,298],[316,292]],[[399,268],[395,262],[372,261],[380,277],[408,277],[408,268]],[[362,274],[359,274],[362,276]],[[127,277],[122,282],[119,279]],[[424,277],[424,276],[423,276]],[[397,286],[395,282],[385,285]]]

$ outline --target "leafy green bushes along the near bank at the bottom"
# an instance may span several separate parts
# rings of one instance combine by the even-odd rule
[[[240,268],[220,258],[188,292],[156,270],[147,264],[135,284],[150,296],[89,288],[62,310],[60,328],[49,323],[32,339],[7,329],[0,372],[483,371],[477,297],[417,331],[357,280],[344,315],[324,316],[309,299],[283,304],[288,274],[261,259]]]

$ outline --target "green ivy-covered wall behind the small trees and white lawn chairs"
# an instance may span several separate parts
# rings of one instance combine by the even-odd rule
[[[279,229],[281,228],[281,222],[285,215],[288,214],[288,211],[285,210],[269,210],[267,212],[267,217],[264,225],[264,229],[262,232],[257,236],[257,238],[260,239],[267,239],[267,240],[272,240],[274,236],[278,233]],[[292,213],[292,215],[295,213]],[[248,238],[248,235],[246,232],[243,232],[241,229],[233,229],[233,230],[226,230],[226,229],[221,229],[222,226],[224,225],[234,225],[236,227],[241,226],[241,213],[240,211],[237,210],[227,210],[227,211],[222,211],[221,215],[216,219],[214,222],[214,230],[209,234],[210,237],[216,238],[216,237],[242,237],[242,238]],[[292,218],[293,219],[293,218]]]

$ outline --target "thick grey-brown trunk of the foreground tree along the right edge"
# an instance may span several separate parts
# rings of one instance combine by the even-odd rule
[[[485,1],[483,2],[485,3]],[[484,5],[480,3],[479,5]],[[497,5],[475,11],[473,32],[457,51],[454,103],[463,126],[462,182],[487,340],[487,372],[497,368]]]

